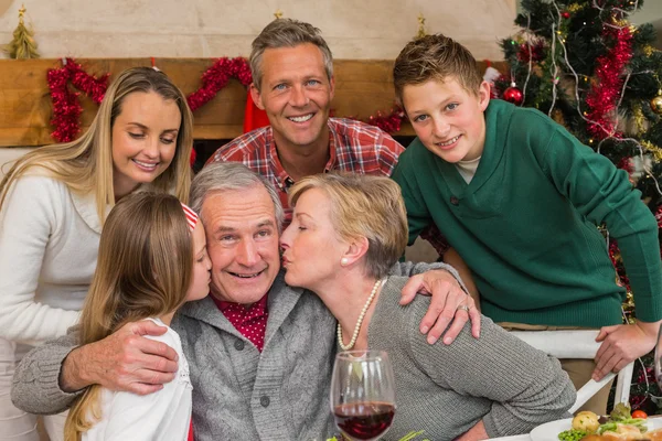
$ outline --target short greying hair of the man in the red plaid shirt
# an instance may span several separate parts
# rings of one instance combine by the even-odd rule
[[[261,58],[267,49],[295,47],[299,44],[311,43],[319,47],[324,60],[324,69],[329,79],[333,76],[333,55],[322,39],[321,31],[312,24],[292,19],[274,20],[253,41],[250,51],[250,73],[253,84],[261,89]]]

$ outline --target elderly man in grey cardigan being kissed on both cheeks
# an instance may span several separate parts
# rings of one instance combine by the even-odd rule
[[[171,326],[190,365],[195,438],[309,440],[331,434],[328,394],[335,321],[317,295],[284,281],[277,192],[244,165],[220,163],[195,178],[191,205],[205,225],[212,289],[210,297],[182,306]],[[457,276],[444,263],[435,266]],[[403,263],[393,273],[418,269],[424,268]],[[431,287],[438,273],[446,271],[417,276],[406,289]],[[452,292],[457,295],[447,304],[451,314],[457,310],[453,323],[463,325],[467,311],[458,302],[467,295]],[[19,408],[47,413],[64,410],[92,384],[138,394],[157,390],[177,372],[173,351],[139,335],[162,330],[150,322],[132,323],[77,348],[72,330],[23,358],[12,400]]]

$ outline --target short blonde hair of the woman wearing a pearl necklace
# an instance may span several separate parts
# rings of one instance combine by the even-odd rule
[[[341,239],[367,239],[366,276],[385,277],[407,246],[407,213],[398,184],[365,174],[317,174],[290,189],[290,206],[311,189],[329,196],[331,223]]]

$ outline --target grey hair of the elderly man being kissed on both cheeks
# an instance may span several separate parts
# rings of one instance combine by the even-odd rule
[[[216,162],[202,169],[191,183],[189,205],[202,218],[202,204],[204,203],[204,198],[210,194],[231,190],[246,190],[255,185],[263,185],[267,190],[267,193],[269,193],[269,197],[274,202],[278,233],[281,233],[285,212],[280,203],[280,197],[278,197],[278,192],[276,192],[274,185],[264,176],[255,173],[239,162]]]

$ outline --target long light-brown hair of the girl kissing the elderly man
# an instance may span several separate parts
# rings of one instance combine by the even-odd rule
[[[122,197],[104,226],[97,268],[81,316],[81,344],[122,325],[174,312],[186,298],[193,245],[181,203],[166,193]],[[89,387],[66,419],[66,441],[102,418],[100,386]]]

